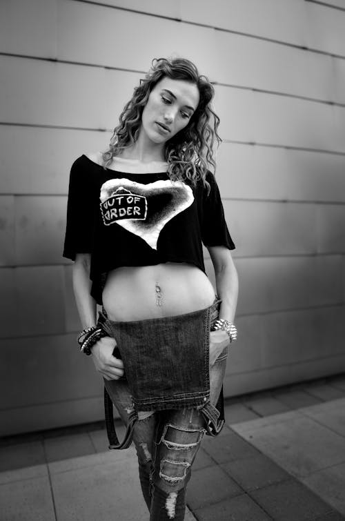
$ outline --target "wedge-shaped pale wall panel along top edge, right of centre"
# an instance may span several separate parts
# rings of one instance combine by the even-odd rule
[[[302,0],[181,2],[182,19],[268,39],[305,44]]]

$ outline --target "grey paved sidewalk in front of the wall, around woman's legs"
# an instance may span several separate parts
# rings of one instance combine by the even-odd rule
[[[345,520],[344,375],[229,400],[226,420],[186,521]],[[147,521],[134,449],[105,447],[95,425],[3,439],[1,521]]]

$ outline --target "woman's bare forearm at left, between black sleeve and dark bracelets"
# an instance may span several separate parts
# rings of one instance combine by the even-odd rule
[[[72,268],[73,291],[81,326],[87,328],[96,325],[96,301],[90,295],[90,267],[88,262],[77,261]]]

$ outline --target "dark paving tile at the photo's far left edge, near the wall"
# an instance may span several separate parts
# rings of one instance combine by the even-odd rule
[[[41,441],[2,446],[0,449],[0,472],[44,463],[46,456]]]

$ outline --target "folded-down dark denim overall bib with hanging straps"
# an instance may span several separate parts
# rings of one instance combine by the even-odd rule
[[[220,299],[206,309],[173,317],[133,322],[109,320],[99,313],[101,326],[117,346],[114,356],[124,363],[124,377],[105,380],[104,402],[110,449],[126,449],[132,441],[137,411],[197,408],[205,419],[208,435],[217,435],[224,425],[223,393],[216,406],[210,402],[210,331],[217,320]],[[217,362],[226,359],[227,348]],[[217,366],[216,366],[217,368]],[[224,376],[224,375],[223,375]],[[109,391],[109,392],[108,392]],[[115,432],[110,395],[130,398],[131,406],[124,440]],[[115,406],[117,400],[115,400]]]

